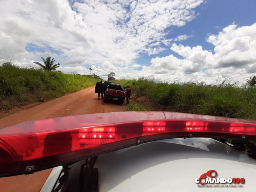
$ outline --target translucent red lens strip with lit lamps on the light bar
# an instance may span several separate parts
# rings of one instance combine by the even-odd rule
[[[29,160],[158,133],[204,132],[256,135],[255,127],[255,125],[251,124],[243,125],[241,123],[230,124],[209,121],[144,121],[103,127],[76,128],[69,131],[48,131],[32,135],[5,135],[1,136],[0,146],[6,150],[8,150],[8,147],[11,148],[12,150],[9,151],[12,156],[22,156],[23,160]],[[81,143],[83,144],[81,145]],[[65,146],[65,144],[69,147]],[[59,149],[57,150],[53,146],[59,146]],[[30,155],[35,153],[37,155]]]

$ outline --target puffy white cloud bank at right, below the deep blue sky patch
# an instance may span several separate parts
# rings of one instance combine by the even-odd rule
[[[214,53],[203,50],[202,46],[194,47],[173,43],[171,50],[183,59],[170,54],[166,57],[155,57],[151,67],[156,73],[178,74],[207,82],[230,79],[242,82],[256,72],[256,23],[251,26],[225,27],[217,35],[209,35],[207,42],[215,45]],[[161,69],[161,70],[160,70]]]

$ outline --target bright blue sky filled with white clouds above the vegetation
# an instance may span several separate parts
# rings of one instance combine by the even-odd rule
[[[179,83],[256,72],[254,0],[24,1],[1,3],[0,63],[51,56],[65,73]]]

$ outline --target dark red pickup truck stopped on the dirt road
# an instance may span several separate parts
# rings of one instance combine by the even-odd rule
[[[124,103],[125,91],[123,91],[120,84],[110,83],[104,94],[104,102],[114,100]]]

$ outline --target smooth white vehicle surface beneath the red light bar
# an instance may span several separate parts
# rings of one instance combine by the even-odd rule
[[[94,167],[98,168],[100,192],[249,192],[256,187],[256,160],[213,139],[169,139],[141,144],[100,155]],[[209,170],[215,170],[219,178],[244,178],[246,182],[196,184],[195,179]]]

